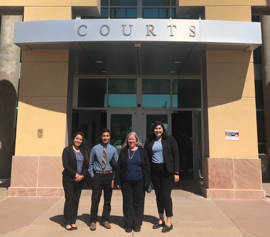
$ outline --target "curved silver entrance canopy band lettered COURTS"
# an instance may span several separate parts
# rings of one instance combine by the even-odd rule
[[[262,44],[259,22],[196,19],[76,19],[15,23],[14,44],[22,49],[74,49],[80,42],[178,42],[236,46]],[[236,49],[236,47],[232,47]],[[226,49],[221,47],[221,49]]]

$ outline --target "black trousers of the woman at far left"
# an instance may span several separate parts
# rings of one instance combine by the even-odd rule
[[[63,180],[62,183],[66,198],[64,204],[64,222],[65,225],[75,224],[84,180],[80,182],[68,182]]]

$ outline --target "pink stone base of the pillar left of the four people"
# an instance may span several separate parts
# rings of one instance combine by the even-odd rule
[[[61,156],[13,156],[8,196],[63,197]]]

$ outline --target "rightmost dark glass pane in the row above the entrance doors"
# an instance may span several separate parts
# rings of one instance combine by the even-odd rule
[[[173,108],[201,108],[201,81],[196,79],[172,80]]]

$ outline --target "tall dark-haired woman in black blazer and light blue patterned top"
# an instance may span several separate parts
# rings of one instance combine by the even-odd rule
[[[153,229],[163,227],[161,232],[169,232],[172,229],[172,186],[179,181],[178,145],[176,140],[168,135],[164,125],[156,121],[144,148],[151,163],[151,181],[155,188],[159,214],[159,221],[153,225]]]

